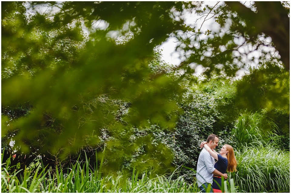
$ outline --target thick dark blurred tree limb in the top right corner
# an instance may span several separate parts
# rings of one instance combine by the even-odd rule
[[[256,2],[258,13],[240,2],[225,2],[242,17],[246,24],[254,27],[250,36],[264,33],[272,38],[286,70],[290,71],[290,18],[281,2]]]

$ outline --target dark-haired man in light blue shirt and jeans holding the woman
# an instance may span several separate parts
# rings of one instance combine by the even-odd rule
[[[207,137],[206,144],[211,149],[215,149],[215,147],[218,146],[218,136],[215,134],[210,134]],[[203,147],[198,158],[196,173],[197,183],[201,192],[206,192],[206,188],[208,187],[209,183],[211,184],[210,192],[213,192],[212,189],[213,174],[219,177],[224,176],[225,179],[227,178],[227,174],[222,174],[221,172],[214,168],[214,163],[215,163],[214,158]]]

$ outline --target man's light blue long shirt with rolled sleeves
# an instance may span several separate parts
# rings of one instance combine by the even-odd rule
[[[196,179],[197,179],[197,183],[199,187],[203,183],[212,184],[212,179],[213,179],[212,172],[215,170],[214,164],[215,164],[214,158],[203,147],[202,151],[200,152],[198,162],[197,162]]]

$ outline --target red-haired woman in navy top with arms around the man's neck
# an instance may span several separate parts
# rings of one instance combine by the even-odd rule
[[[203,145],[205,149],[209,152],[209,154],[217,160],[217,162],[214,164],[214,168],[216,168],[216,170],[218,170],[222,174],[226,173],[226,170],[228,172],[236,171],[236,158],[234,157],[233,148],[230,145],[223,145],[219,153],[217,153],[213,149],[210,149],[209,146],[206,144],[206,141],[203,141],[201,143],[201,147],[203,147]],[[215,181],[218,183],[218,185]],[[213,175],[213,192],[221,193],[219,187],[221,187],[221,177]]]

